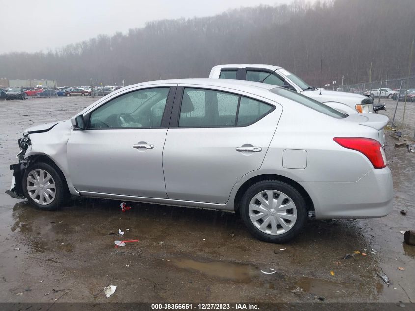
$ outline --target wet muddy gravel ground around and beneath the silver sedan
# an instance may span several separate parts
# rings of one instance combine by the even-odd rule
[[[120,201],[79,198],[44,212],[4,194],[22,131],[67,119],[93,101],[0,102],[1,302],[415,302],[415,246],[400,233],[415,229],[415,154],[394,149],[389,135],[391,214],[310,220],[285,245],[255,240],[231,213],[139,203],[122,213]],[[115,248],[118,229],[122,239],[140,241]],[[109,284],[118,287],[107,299]]]

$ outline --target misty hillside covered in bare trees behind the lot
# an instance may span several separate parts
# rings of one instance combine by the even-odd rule
[[[114,31],[117,29],[114,28]],[[47,36],[45,36],[47,38]],[[335,0],[259,6],[221,15],[148,23],[144,28],[44,53],[0,55],[0,77],[50,78],[59,85],[133,84],[207,77],[222,63],[277,64],[320,83],[408,74],[415,38],[414,0]],[[412,62],[415,73],[415,61]],[[346,83],[346,81],[345,81]]]

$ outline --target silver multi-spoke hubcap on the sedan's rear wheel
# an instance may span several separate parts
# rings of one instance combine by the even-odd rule
[[[286,194],[277,190],[264,190],[251,199],[249,218],[264,233],[283,234],[294,226],[297,208]]]

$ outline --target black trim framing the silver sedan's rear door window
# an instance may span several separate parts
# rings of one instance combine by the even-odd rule
[[[236,117],[235,117],[235,125],[212,125],[212,126],[205,126],[205,125],[201,125],[201,126],[179,126],[179,119],[180,119],[180,110],[181,110],[181,106],[182,106],[182,98],[183,98],[183,93],[184,93],[184,89],[185,88],[194,88],[194,89],[205,89],[205,90],[211,90],[211,91],[217,91],[217,92],[222,92],[222,93],[229,93],[232,95],[236,95],[238,96],[238,106],[236,108]],[[244,125],[237,125],[238,122],[238,114],[239,114],[239,105],[241,103],[241,97],[244,96],[246,98],[255,100],[257,102],[266,104],[268,106],[271,106],[271,109],[267,112],[262,114],[259,118],[255,119],[254,121],[244,124]],[[199,85],[199,86],[177,86],[177,90],[176,90],[176,96],[174,98],[174,103],[173,103],[173,110],[171,113],[171,118],[170,118],[170,126],[169,128],[179,128],[179,129],[199,129],[199,128],[229,128],[229,127],[247,127],[250,126],[252,124],[255,124],[256,122],[258,122],[259,120],[263,119],[264,117],[266,117],[268,114],[272,113],[274,110],[276,109],[276,105],[273,105],[271,103],[267,103],[264,102],[262,100],[247,96],[247,95],[241,95],[238,93],[233,93],[231,91],[223,91],[221,89],[217,89],[213,86],[209,86],[209,85]]]

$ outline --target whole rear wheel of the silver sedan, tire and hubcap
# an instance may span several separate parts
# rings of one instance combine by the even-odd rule
[[[293,186],[264,180],[250,186],[241,199],[240,215],[259,240],[285,243],[294,238],[307,219],[303,196]]]

